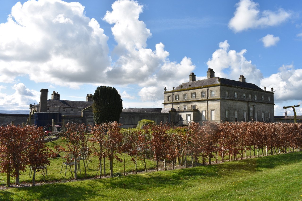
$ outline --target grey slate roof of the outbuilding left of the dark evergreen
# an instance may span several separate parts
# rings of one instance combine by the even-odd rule
[[[48,107],[72,107],[72,108],[86,108],[92,105],[93,102],[88,101],[64,101],[64,100],[47,100]],[[36,104],[34,106],[39,106]]]

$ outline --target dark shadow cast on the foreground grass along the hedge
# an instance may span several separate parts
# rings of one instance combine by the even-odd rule
[[[0,191],[4,200],[30,199],[47,200],[84,200],[93,197],[111,199],[108,190],[115,188],[133,191],[146,191],[153,188],[167,188],[176,185],[194,185],[196,179],[210,180],[212,178],[235,176],[235,173],[253,173],[263,169],[271,169],[280,165],[293,164],[302,161],[302,152],[272,155],[268,157],[251,158],[242,161],[231,161],[223,164],[198,166],[174,171],[159,171],[146,174],[128,175],[109,179],[86,180],[70,183],[55,183],[50,185],[24,187],[10,191]],[[101,190],[100,190],[101,189]],[[20,195],[23,195],[22,197]]]

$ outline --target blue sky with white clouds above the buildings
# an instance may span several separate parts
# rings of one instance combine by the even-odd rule
[[[301,1],[2,1],[0,110],[40,89],[85,101],[115,87],[124,108],[163,107],[190,72],[271,87],[275,115],[302,105]],[[301,108],[296,108],[302,115]],[[288,110],[292,114],[292,110]]]

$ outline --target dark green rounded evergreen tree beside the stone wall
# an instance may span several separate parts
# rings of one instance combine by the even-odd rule
[[[95,124],[114,121],[119,123],[123,100],[114,87],[98,87],[93,95],[92,106]]]

